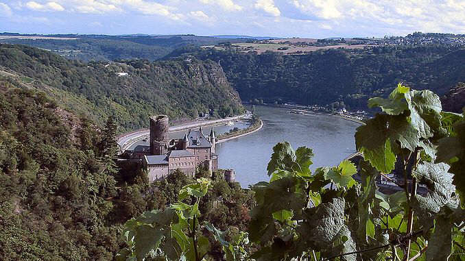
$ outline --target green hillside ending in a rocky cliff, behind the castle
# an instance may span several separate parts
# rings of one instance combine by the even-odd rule
[[[118,73],[121,73],[119,76]],[[22,45],[0,45],[0,74],[56,98],[64,109],[98,125],[114,115],[119,131],[148,125],[148,117],[195,119],[243,111],[217,63],[200,60],[79,62]]]

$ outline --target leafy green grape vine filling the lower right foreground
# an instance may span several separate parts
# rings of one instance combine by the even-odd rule
[[[278,143],[270,182],[251,187],[257,204],[247,232],[228,241],[228,231],[198,223],[210,184],[198,179],[180,202],[126,223],[119,260],[212,260],[214,242],[225,260],[463,260],[464,115],[442,112],[433,92],[402,84],[368,105],[381,112],[357,128],[357,164],[312,173],[311,149]],[[380,181],[401,189],[383,193]]]

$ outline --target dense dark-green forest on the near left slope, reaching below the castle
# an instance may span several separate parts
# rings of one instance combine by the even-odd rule
[[[2,260],[112,260],[125,246],[123,223],[176,201],[193,182],[174,173],[147,184],[140,171],[119,171],[109,153],[114,138],[111,118],[100,129],[43,92],[0,81]],[[245,229],[251,195],[239,184],[212,182],[202,219]]]

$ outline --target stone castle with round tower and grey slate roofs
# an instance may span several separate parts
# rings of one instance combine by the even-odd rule
[[[215,154],[216,137],[213,127],[208,136],[189,129],[184,138],[169,140],[169,119],[166,115],[150,117],[150,145],[139,145],[133,151],[134,158],[141,158],[150,182],[163,179],[179,169],[193,177],[195,168],[204,164],[209,171],[218,169]]]

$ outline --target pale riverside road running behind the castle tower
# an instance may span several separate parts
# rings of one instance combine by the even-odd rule
[[[211,121],[196,121],[193,123],[171,126],[169,127],[169,132],[178,132],[184,129],[193,129],[195,127],[206,126],[206,125],[215,125],[218,123],[224,123],[226,121],[234,121],[237,119],[246,118],[247,116],[250,116],[250,114],[242,114],[239,116],[228,117],[225,119],[218,119],[218,120],[211,120]],[[119,145],[120,152],[125,151],[126,149],[131,147],[134,144],[134,142],[138,142],[139,140],[145,138],[146,136],[149,136],[149,134],[150,134],[149,129],[141,129],[136,132],[130,132],[128,134],[123,134],[122,136],[119,136],[117,143]]]

